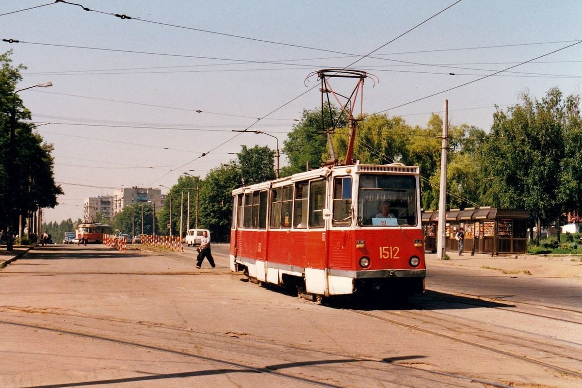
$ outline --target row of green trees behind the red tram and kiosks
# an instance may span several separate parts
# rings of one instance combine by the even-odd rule
[[[561,225],[567,213],[582,208],[582,119],[580,98],[564,98],[552,88],[540,100],[521,95],[521,103],[496,108],[489,132],[469,124],[450,126],[448,134],[447,209],[491,206],[526,209],[533,226]],[[283,141],[288,165],[281,177],[318,168],[329,159],[325,129],[331,127],[328,108],[304,110],[299,123]],[[331,135],[338,159],[346,154],[347,120]],[[322,120],[323,118],[323,120]],[[442,119],[433,114],[426,126],[410,126],[401,117],[368,115],[357,124],[354,158],[361,163],[400,162],[420,166],[421,205],[438,208]],[[213,239],[228,241],[232,217],[231,191],[275,178],[275,151],[268,147],[243,149],[237,158],[200,177],[182,176],[170,190],[159,213],[159,230],[167,230],[172,198],[172,230],[179,234],[182,193],[198,198],[198,227],[210,229]],[[183,205],[187,211],[187,204]],[[183,225],[185,225],[183,213]],[[193,227],[193,223],[190,222]],[[185,226],[183,230],[185,230]],[[163,233],[163,232],[162,232]],[[183,232],[184,233],[184,232]],[[167,233],[165,233],[167,234]],[[539,233],[538,233],[539,238]]]

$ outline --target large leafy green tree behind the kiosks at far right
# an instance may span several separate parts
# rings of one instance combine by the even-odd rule
[[[568,199],[580,193],[580,159],[572,159],[580,156],[579,125],[577,99],[565,103],[557,88],[542,101],[526,94],[523,104],[498,109],[483,148],[484,196],[495,206],[527,209],[538,227],[559,223],[564,211],[580,206]]]

